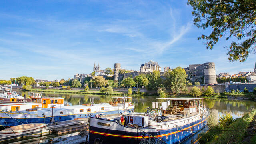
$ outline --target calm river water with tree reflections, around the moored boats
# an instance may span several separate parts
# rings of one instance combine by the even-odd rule
[[[22,96],[26,92],[18,92]],[[90,103],[92,98],[94,98],[94,103],[109,102],[112,96],[105,95],[91,95],[91,94],[63,94],[63,93],[42,93],[43,96],[47,97],[63,97],[64,102],[70,105],[79,105],[84,103]],[[133,97],[132,102],[135,103],[136,112],[145,112],[146,108],[152,108],[152,102],[156,101],[159,96],[136,96]],[[166,97],[168,98],[168,97]],[[156,101],[157,102],[157,101]],[[233,118],[242,117],[245,113],[249,112],[256,107],[256,102],[249,100],[234,100],[225,98],[207,98],[205,99],[205,105],[210,108],[212,112],[218,116],[226,115],[230,113]],[[196,139],[197,135],[192,137]],[[184,142],[185,144],[190,144],[191,138]]]

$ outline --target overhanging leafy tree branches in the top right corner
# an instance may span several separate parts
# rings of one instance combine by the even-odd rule
[[[244,62],[250,52],[256,52],[256,2],[255,0],[188,0],[193,7],[194,24],[198,28],[212,27],[210,35],[198,37],[206,40],[212,49],[222,36],[234,36],[237,42],[228,46],[228,60]]]

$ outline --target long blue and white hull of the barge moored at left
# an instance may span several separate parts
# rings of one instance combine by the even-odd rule
[[[128,109],[127,111],[133,111],[134,108]],[[123,110],[124,112],[124,110]],[[66,121],[66,120],[74,120],[76,118],[88,118],[90,116],[96,116],[100,113],[104,113],[106,115],[110,114],[119,114],[121,113],[121,110],[112,110],[108,112],[92,112],[92,113],[80,113],[80,114],[67,114],[67,115],[62,115],[62,116],[54,116],[55,122],[60,122],[60,121]],[[24,118],[18,118],[17,114],[13,113],[3,113],[0,112],[1,118],[0,118],[0,126],[2,128],[8,127],[8,126],[18,126],[20,124],[30,124],[30,123],[50,123],[51,116],[45,116],[45,117],[39,117],[39,116],[29,116],[29,114],[25,114]]]

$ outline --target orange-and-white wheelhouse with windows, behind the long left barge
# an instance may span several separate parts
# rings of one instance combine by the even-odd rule
[[[32,102],[37,102],[42,104],[42,108],[50,108],[51,106],[55,105],[54,107],[64,106],[64,98],[31,98]]]

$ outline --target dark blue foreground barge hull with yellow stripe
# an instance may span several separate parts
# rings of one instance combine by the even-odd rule
[[[120,142],[122,144],[139,144],[141,141],[149,139],[157,143],[158,140],[156,138],[160,138],[167,144],[177,144],[204,128],[207,124],[207,119],[208,116],[205,116],[200,120],[168,130],[156,130],[155,128],[142,128],[140,130],[128,128],[110,120],[100,121],[98,118],[92,118],[90,123],[90,144],[93,144],[96,139],[100,142],[103,141],[102,143],[104,144],[120,144]],[[106,126],[106,124],[110,124],[110,126]]]

